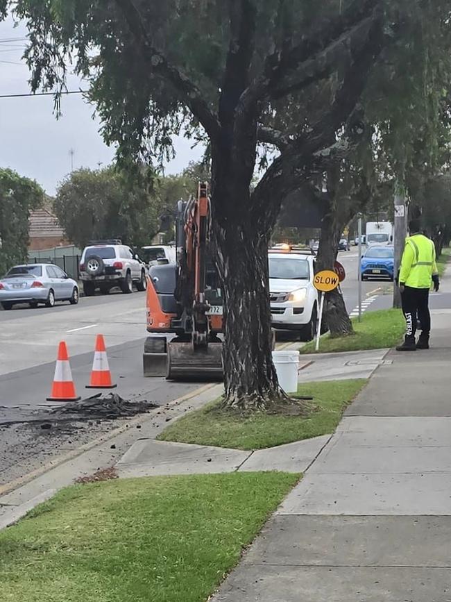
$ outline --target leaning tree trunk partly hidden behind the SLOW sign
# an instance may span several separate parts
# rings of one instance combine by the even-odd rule
[[[343,226],[344,224],[337,216],[337,210],[331,208],[323,218],[321,226],[316,271],[334,269]],[[331,337],[342,337],[354,332],[340,287],[326,293],[323,321],[325,327],[329,329]]]

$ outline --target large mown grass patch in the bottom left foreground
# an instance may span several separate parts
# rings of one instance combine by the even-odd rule
[[[2,602],[203,602],[299,476],[75,485],[0,533]]]

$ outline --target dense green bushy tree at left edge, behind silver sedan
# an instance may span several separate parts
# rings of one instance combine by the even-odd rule
[[[12,169],[0,169],[0,275],[28,256],[30,213],[44,201],[34,180]]]

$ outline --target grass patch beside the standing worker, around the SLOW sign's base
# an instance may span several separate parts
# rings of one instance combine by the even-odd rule
[[[361,322],[352,320],[354,334],[332,338],[326,334],[321,337],[319,353],[337,353],[339,351],[362,351],[365,349],[385,349],[399,344],[405,332],[405,320],[401,310],[380,310],[366,312]],[[315,353],[315,342],[307,343],[300,353]]]

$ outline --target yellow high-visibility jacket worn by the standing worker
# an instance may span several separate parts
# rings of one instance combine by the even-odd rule
[[[438,274],[435,246],[423,234],[406,239],[402,253],[400,283],[412,288],[430,288],[433,274]]]

